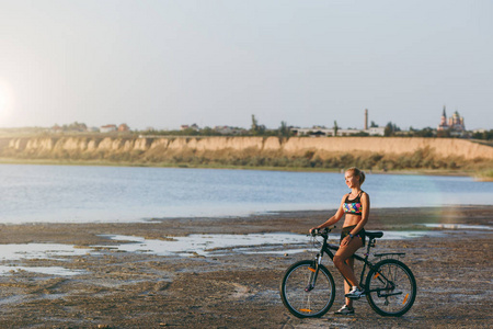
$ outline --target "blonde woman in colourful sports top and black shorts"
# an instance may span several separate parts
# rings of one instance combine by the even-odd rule
[[[341,246],[334,256],[334,264],[345,277],[344,292],[346,303],[335,314],[348,315],[354,314],[353,299],[365,296],[363,290],[358,286],[356,275],[354,274],[353,254],[365,246],[365,229],[363,228],[368,222],[369,214],[369,196],[362,191],[362,184],[365,181],[365,172],[357,168],[346,170],[345,180],[351,193],[344,194],[341,205],[334,216],[329,218],[322,225],[313,227],[321,229],[337,223],[345,214],[344,225],[341,232]]]

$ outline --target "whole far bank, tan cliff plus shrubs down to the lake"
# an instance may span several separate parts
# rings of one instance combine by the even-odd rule
[[[491,168],[493,147],[458,138],[401,137],[0,137],[0,157],[133,164],[369,169]]]

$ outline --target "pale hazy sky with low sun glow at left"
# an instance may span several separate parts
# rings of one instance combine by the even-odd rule
[[[0,127],[493,128],[491,0],[0,0]]]

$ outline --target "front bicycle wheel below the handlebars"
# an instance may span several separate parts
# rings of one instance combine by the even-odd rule
[[[334,303],[334,279],[319,265],[317,280],[313,261],[297,262],[287,269],[280,282],[280,297],[286,308],[298,318],[323,316]]]

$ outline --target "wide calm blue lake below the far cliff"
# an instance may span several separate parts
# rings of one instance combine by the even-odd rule
[[[368,174],[372,207],[492,204],[493,183]],[[334,209],[342,173],[0,164],[0,223],[137,222]]]

